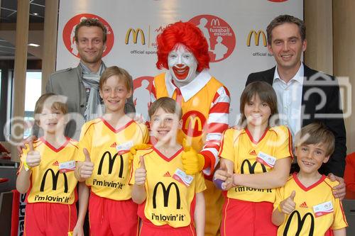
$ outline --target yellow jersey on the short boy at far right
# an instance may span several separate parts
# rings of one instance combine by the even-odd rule
[[[297,174],[291,175],[285,186],[276,189],[274,208],[292,191],[296,192],[296,208],[290,215],[285,215],[283,224],[278,227],[278,235],[324,235],[329,228],[339,230],[348,226],[342,202],[332,193],[332,187],[337,184],[323,175],[317,183],[306,187]]]

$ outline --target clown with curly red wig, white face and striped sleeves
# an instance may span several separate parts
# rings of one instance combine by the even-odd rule
[[[204,172],[205,235],[219,235],[223,198],[210,180],[219,161],[222,133],[228,128],[229,91],[209,74],[208,44],[197,26],[173,23],[158,35],[157,43],[156,66],[167,71],[154,78],[151,100],[168,96],[180,103],[183,123],[178,141],[185,140],[185,150],[193,147],[182,164],[187,174]]]

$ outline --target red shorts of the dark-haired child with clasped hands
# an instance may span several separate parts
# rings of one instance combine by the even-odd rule
[[[254,203],[226,198],[222,211],[221,235],[276,235],[278,227],[271,222],[273,203]]]

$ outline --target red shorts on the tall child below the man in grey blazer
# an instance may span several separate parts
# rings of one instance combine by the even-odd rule
[[[132,199],[116,201],[90,193],[90,235],[138,235],[137,204]]]

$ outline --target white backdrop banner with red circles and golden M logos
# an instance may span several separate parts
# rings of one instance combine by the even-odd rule
[[[303,18],[303,0],[60,0],[57,70],[77,67],[80,60],[77,23],[99,18],[108,29],[103,60],[129,71],[136,110],[146,116],[149,86],[161,73],[155,67],[156,35],[170,23],[190,21],[209,43],[210,74],[229,89],[233,124],[248,74],[275,65],[266,47],[266,27],[280,14]]]

